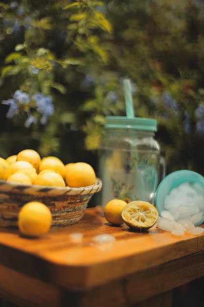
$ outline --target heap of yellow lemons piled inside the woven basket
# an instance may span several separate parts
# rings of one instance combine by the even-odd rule
[[[84,187],[95,183],[92,166],[86,162],[64,164],[55,156],[41,158],[25,149],[6,159],[0,157],[0,180],[56,187]]]

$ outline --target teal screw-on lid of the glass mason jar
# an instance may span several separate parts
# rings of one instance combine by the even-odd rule
[[[145,131],[157,131],[157,120],[152,118],[106,116],[105,128],[125,128]]]

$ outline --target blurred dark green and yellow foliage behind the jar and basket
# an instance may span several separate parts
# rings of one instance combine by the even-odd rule
[[[125,115],[129,77],[135,115],[158,120],[167,172],[204,175],[202,0],[3,1],[0,42],[0,101],[21,89],[55,106],[25,128],[27,105],[8,119],[0,104],[0,156],[33,148],[94,165],[105,116]]]

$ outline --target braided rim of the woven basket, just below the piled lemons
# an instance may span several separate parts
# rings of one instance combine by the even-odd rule
[[[47,195],[85,195],[93,194],[99,192],[102,188],[102,180],[96,177],[96,181],[92,185],[84,187],[55,187],[55,186],[45,186],[45,185],[25,185],[16,182],[0,180],[0,192],[15,192],[25,193],[25,194],[47,194]]]

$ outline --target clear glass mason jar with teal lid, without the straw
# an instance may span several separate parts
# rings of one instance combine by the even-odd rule
[[[122,199],[154,204],[158,184],[165,177],[164,159],[154,138],[157,121],[107,116],[105,128],[98,149],[98,176],[103,182],[98,203],[105,206]]]

